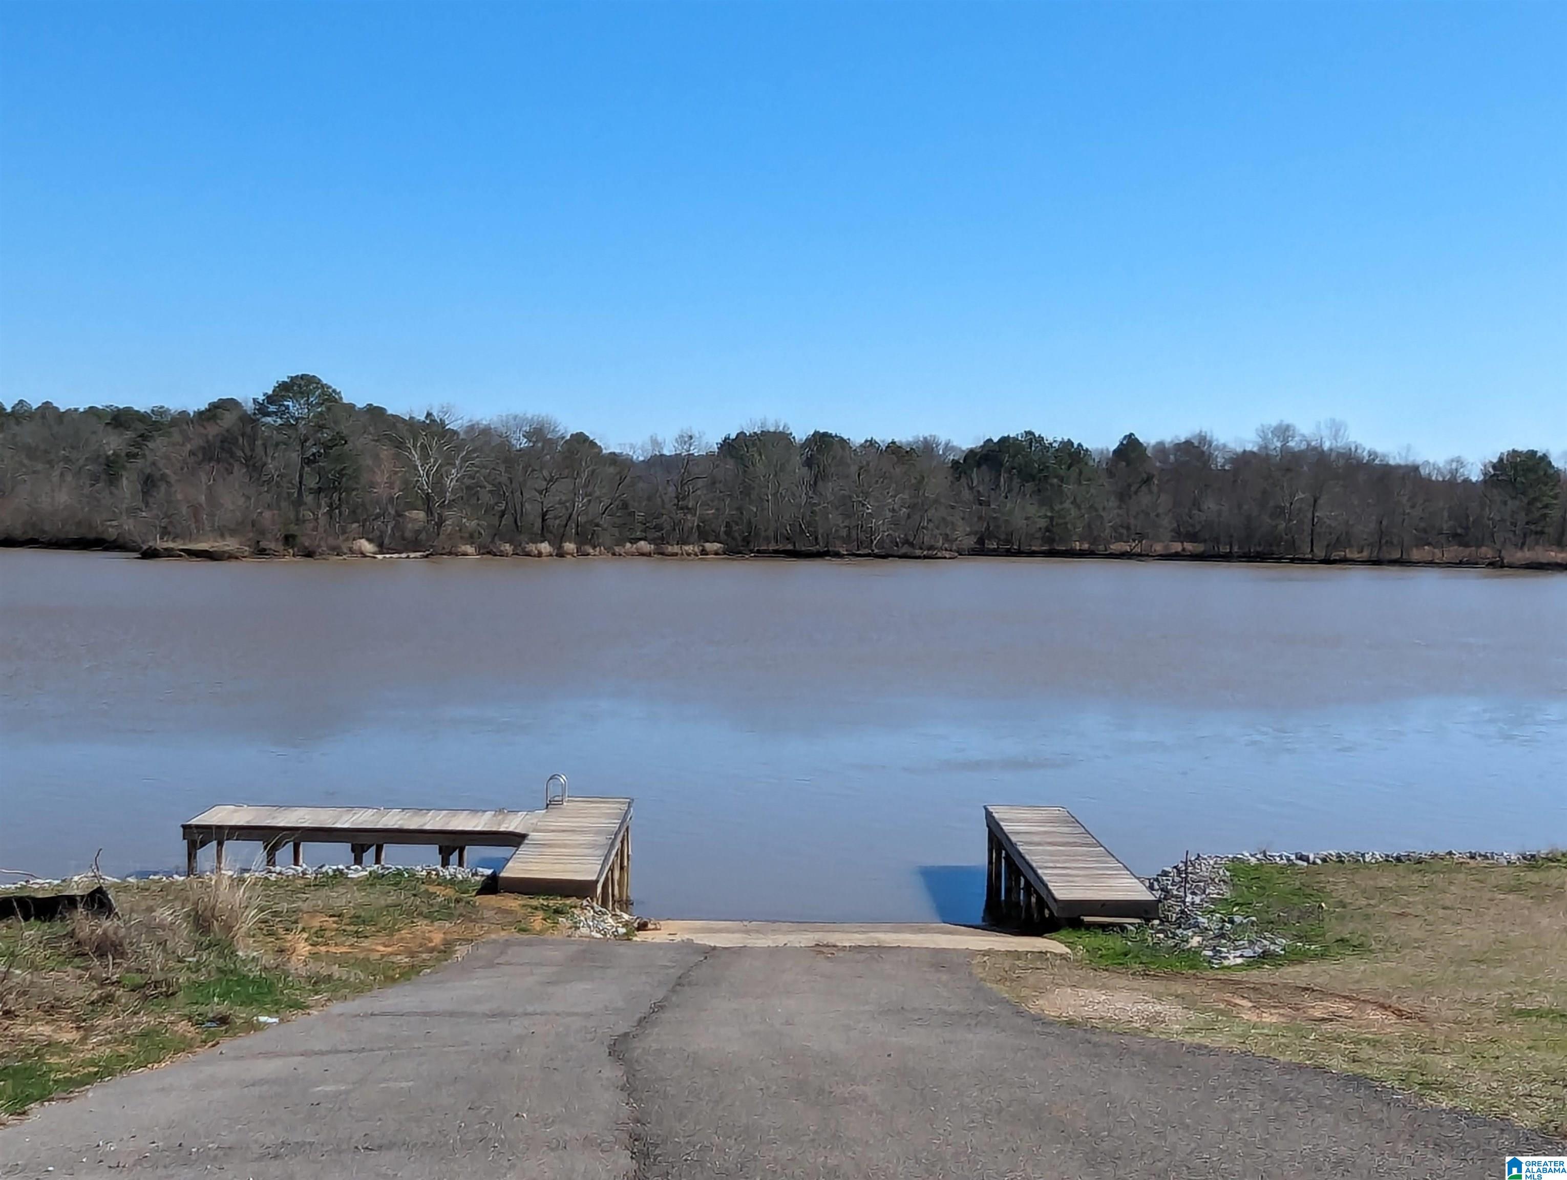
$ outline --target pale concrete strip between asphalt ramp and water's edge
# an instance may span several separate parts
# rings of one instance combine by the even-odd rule
[[[700,942],[704,947],[923,947],[940,951],[1050,951],[1055,939],[1003,934],[943,921],[661,921],[638,942]]]

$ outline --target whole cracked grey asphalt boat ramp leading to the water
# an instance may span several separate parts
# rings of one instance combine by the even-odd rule
[[[1529,1150],[1355,1080],[1037,1020],[964,953],[533,939],[45,1106],[0,1130],[0,1177],[1478,1180]]]

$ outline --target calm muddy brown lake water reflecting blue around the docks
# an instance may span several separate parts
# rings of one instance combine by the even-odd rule
[[[1567,578],[0,553],[0,867],[213,802],[636,796],[655,915],[978,910],[984,802],[1185,849],[1567,845]],[[337,860],[343,849],[317,848]]]

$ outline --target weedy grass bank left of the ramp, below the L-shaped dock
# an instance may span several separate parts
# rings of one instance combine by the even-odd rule
[[[396,983],[478,939],[548,932],[574,909],[417,871],[110,889],[114,918],[0,923],[0,1117],[257,1017]]]

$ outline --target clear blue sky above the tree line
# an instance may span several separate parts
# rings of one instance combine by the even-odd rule
[[[1567,5],[0,5],[0,396],[1567,447]]]

